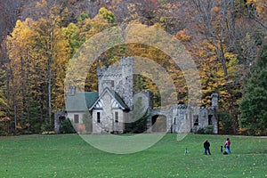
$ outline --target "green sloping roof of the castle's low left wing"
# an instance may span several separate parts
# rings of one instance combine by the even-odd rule
[[[68,95],[66,100],[67,111],[85,111],[93,106],[98,99],[98,92],[75,93]]]

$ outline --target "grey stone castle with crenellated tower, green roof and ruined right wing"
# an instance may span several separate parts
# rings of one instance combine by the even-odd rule
[[[217,103],[218,95],[212,94],[212,106],[191,107],[183,104],[154,109],[153,93],[150,91],[134,91],[134,58],[123,57],[119,64],[98,67],[98,92],[75,93],[71,90],[66,100],[67,112],[55,113],[55,132],[59,133],[59,125],[69,117],[77,132],[85,132],[85,110],[92,115],[90,133],[124,133],[125,123],[131,122],[134,103],[142,101],[142,110],[149,113],[146,133],[196,133],[209,126],[214,134],[218,134]],[[73,89],[73,88],[72,88]],[[75,87],[74,87],[75,89]],[[74,91],[74,92],[73,92]],[[85,105],[80,104],[85,103]],[[131,115],[132,114],[132,115]]]

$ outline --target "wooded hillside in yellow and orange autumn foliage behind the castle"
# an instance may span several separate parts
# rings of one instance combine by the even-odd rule
[[[0,134],[53,130],[53,113],[65,109],[69,61],[82,44],[105,29],[142,24],[165,30],[190,52],[201,77],[201,105],[219,94],[221,134],[266,135],[266,12],[266,0],[1,0]],[[122,56],[156,61],[173,79],[177,92],[170,97],[187,102],[190,86],[181,69],[145,44],[101,53],[85,91],[97,91],[96,66]],[[142,89],[154,92],[158,107],[157,85],[135,76],[134,90]]]

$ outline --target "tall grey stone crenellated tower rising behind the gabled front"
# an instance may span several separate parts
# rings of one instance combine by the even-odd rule
[[[134,102],[134,58],[122,57],[120,64],[97,69],[98,92],[101,94],[105,88],[115,91],[132,109]]]

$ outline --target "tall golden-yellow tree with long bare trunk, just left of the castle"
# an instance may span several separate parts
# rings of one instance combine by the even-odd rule
[[[46,64],[47,83],[47,125],[53,126],[53,86],[55,81],[59,79],[61,84],[63,83],[62,75],[57,75],[58,68],[56,66],[62,66],[66,63],[68,56],[68,49],[65,48],[67,42],[64,39],[61,26],[68,10],[59,4],[50,4],[48,1],[43,0],[41,3],[36,3],[36,9],[43,12],[40,15],[39,20],[36,20],[33,24],[35,29],[33,46],[37,53],[41,54],[40,60]],[[65,65],[65,64],[64,64]],[[62,69],[65,69],[63,66]],[[59,77],[59,78],[55,78]],[[59,84],[59,83],[58,83]],[[62,89],[62,85],[58,85]]]

